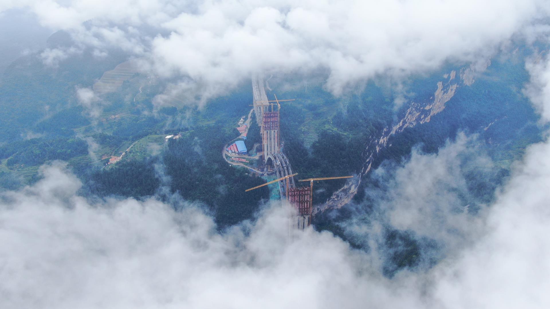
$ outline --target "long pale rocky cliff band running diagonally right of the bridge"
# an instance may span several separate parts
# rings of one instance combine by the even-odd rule
[[[487,63],[487,65],[489,63]],[[455,79],[456,71],[453,70],[449,74],[443,75],[445,79],[449,78],[449,81],[445,83],[439,81],[437,83],[437,90],[433,95],[433,101],[422,103],[412,102],[409,109],[405,112],[405,115],[397,124],[393,125],[391,128],[388,127],[384,129],[379,136],[372,136],[370,143],[366,145],[365,150],[361,153],[362,157],[365,158],[365,163],[363,164],[361,172],[340,190],[334,192],[326,203],[315,208],[313,213],[315,214],[331,208],[340,208],[351,201],[351,198],[357,193],[357,189],[361,184],[362,176],[370,172],[373,158],[375,158],[376,154],[378,154],[382,148],[386,148],[389,137],[400,133],[405,128],[412,128],[417,124],[430,122],[432,116],[441,113],[445,108],[445,103],[454,96],[460,81],[463,81],[463,84],[468,86],[474,82],[474,73],[475,69],[471,66],[467,69],[463,69],[460,73],[460,80],[455,80],[454,83],[452,83],[452,81]]]

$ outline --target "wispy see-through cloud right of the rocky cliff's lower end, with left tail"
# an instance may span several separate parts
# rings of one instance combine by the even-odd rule
[[[366,190],[370,202],[359,206],[374,209],[366,215],[371,225],[366,229],[365,218],[356,216],[343,228],[383,241],[379,225],[384,225],[436,241],[444,254],[470,244],[481,233],[487,210],[476,192],[490,195],[497,186],[491,158],[479,144],[476,136],[460,133],[437,153],[414,148],[402,167],[383,164],[371,174],[376,185]]]

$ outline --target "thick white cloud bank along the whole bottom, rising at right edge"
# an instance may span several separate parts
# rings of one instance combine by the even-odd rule
[[[464,150],[449,145],[438,156]],[[45,178],[37,184],[2,196],[0,305],[546,308],[549,151],[548,143],[530,147],[486,220],[466,222],[476,233],[460,250],[427,272],[402,271],[393,279],[380,272],[383,252],[355,251],[313,230],[289,238],[287,214],[278,205],[266,207],[256,222],[218,234],[196,205],[175,212],[156,200],[87,201],[76,194],[78,179],[53,164],[42,169]],[[413,158],[403,173],[422,161]],[[427,160],[423,167],[432,161],[444,160]],[[422,196],[433,202],[431,194]],[[453,207],[446,202],[439,207]],[[443,231],[456,227],[434,219],[441,209],[435,211],[414,218]]]

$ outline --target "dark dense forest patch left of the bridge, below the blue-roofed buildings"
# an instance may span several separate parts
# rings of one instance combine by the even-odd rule
[[[163,157],[172,191],[186,200],[204,202],[220,227],[251,219],[260,200],[268,197],[267,187],[245,193],[265,180],[224,161],[223,146],[232,139],[232,134],[233,131],[215,126],[194,130],[170,140]]]

